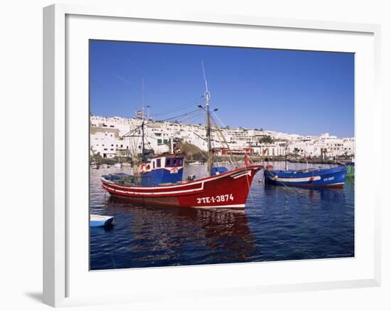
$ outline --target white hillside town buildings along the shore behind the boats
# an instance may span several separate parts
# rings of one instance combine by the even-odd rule
[[[205,125],[143,120],[140,117],[102,117],[90,115],[90,154],[102,158],[129,155],[139,135],[129,135],[145,122],[146,143],[156,154],[170,151],[173,142],[192,144],[200,150],[207,149]],[[221,136],[224,139],[221,139]],[[329,133],[302,136],[272,130],[223,127],[211,133],[216,155],[248,154],[254,157],[291,157],[303,159],[336,159],[354,157],[354,137],[336,137]],[[139,148],[141,148],[139,146]]]

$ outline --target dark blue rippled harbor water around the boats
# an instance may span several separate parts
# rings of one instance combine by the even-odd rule
[[[91,270],[354,256],[354,179],[341,189],[304,189],[265,185],[261,171],[245,209],[181,209],[114,199],[100,181],[112,172],[129,167],[90,169],[90,213],[114,216],[114,226],[90,228]],[[183,177],[205,172],[188,165]]]

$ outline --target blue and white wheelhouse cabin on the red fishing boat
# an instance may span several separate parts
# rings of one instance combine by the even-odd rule
[[[159,154],[148,162],[141,163],[142,186],[176,184],[182,181],[185,154]]]

